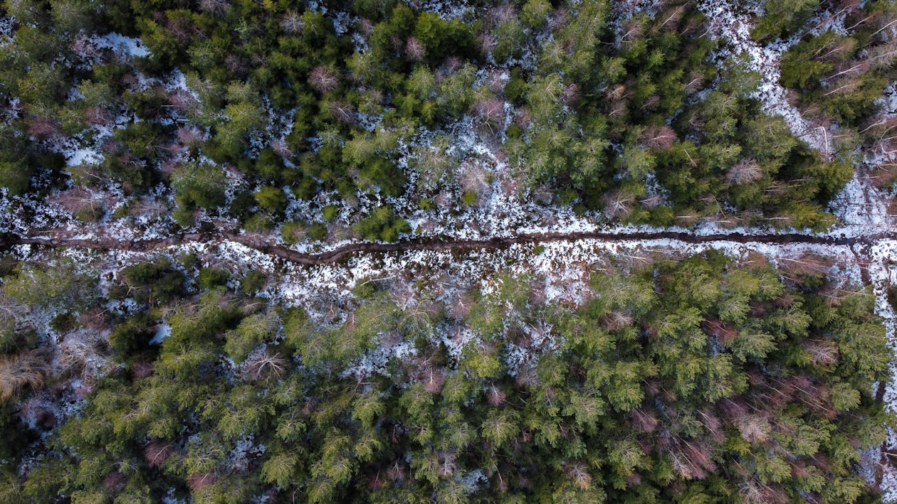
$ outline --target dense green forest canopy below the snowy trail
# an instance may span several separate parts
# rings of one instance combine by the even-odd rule
[[[891,354],[870,292],[830,268],[607,261],[578,306],[526,275],[370,278],[312,316],[258,298],[258,272],[187,256],[127,267],[108,299],[71,261],[20,263],[4,500],[868,500],[858,465],[890,422],[872,393]],[[47,306],[57,358],[28,316]],[[51,406],[66,388],[88,398],[77,414]]]

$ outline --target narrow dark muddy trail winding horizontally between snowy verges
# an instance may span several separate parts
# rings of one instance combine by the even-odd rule
[[[882,240],[897,239],[897,232],[880,233],[867,236],[820,236],[798,233],[786,234],[745,234],[728,233],[714,235],[692,235],[679,231],[643,231],[643,232],[573,232],[573,233],[534,233],[509,237],[496,237],[482,240],[460,239],[410,239],[396,243],[356,242],[346,243],[324,252],[298,252],[289,247],[270,243],[265,236],[239,235],[237,233],[188,233],[172,235],[140,241],[126,241],[115,238],[77,238],[21,236],[13,234],[0,235],[0,251],[8,250],[19,244],[30,244],[41,247],[77,247],[94,250],[115,250],[124,252],[152,252],[168,247],[189,243],[241,243],[258,252],[274,255],[285,261],[302,265],[318,265],[342,261],[353,253],[363,252],[411,252],[411,251],[451,251],[467,252],[474,250],[506,249],[515,244],[537,244],[550,242],[577,242],[593,240],[603,243],[629,243],[648,240],[672,240],[680,243],[768,243],[768,244],[828,244],[828,245],[871,245]]]

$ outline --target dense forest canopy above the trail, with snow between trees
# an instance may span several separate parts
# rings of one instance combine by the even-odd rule
[[[897,8],[836,2],[846,32],[783,57],[781,84],[837,124],[820,152],[762,112],[699,6],[7,0],[0,185],[88,222],[173,205],[173,229],[287,243],[395,241],[497,179],[611,221],[831,226],[858,147],[893,128],[874,118]],[[753,37],[798,37],[822,6],[768,2]]]

